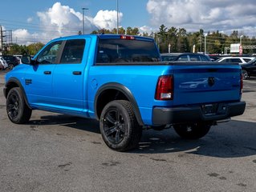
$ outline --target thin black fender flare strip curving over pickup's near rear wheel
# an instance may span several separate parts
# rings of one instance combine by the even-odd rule
[[[137,102],[135,98],[132,95],[132,92],[128,90],[128,88],[120,83],[116,82],[110,82],[105,84],[104,86],[101,86],[100,89],[97,91],[95,94],[95,102],[94,102],[94,110],[95,110],[95,117],[99,120],[100,117],[98,117],[97,113],[97,101],[101,93],[104,92],[104,90],[119,90],[122,94],[124,94],[127,98],[128,101],[132,103],[132,108],[134,110],[134,113],[136,115],[136,119],[139,122],[140,126],[144,126],[144,122],[142,121],[141,115],[140,115],[140,110],[137,105]]]

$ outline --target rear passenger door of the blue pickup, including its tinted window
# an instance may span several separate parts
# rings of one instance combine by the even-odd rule
[[[75,38],[65,42],[59,64],[53,75],[53,99],[58,108],[82,113],[87,90],[87,44],[89,39]]]

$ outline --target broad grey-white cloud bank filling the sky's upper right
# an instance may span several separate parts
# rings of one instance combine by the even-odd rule
[[[153,27],[184,27],[232,31],[248,29],[256,23],[254,0],[148,0],[148,13]]]

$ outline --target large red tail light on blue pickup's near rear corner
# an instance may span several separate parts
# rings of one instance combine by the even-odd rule
[[[163,75],[158,78],[156,100],[173,100],[173,76]]]

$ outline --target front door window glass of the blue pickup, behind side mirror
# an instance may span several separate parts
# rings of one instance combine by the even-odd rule
[[[57,63],[57,58],[59,55],[59,48],[61,46],[61,41],[52,42],[48,45],[38,56],[37,63],[38,64],[53,64]]]

